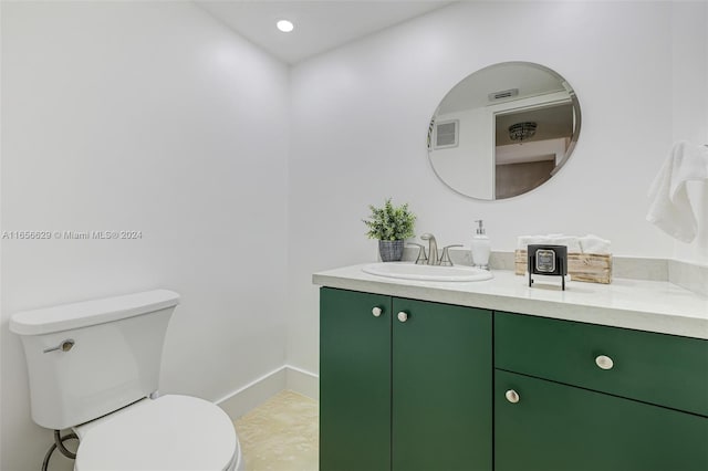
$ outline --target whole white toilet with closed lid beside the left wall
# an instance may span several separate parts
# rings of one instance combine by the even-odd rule
[[[179,295],[154,290],[19,312],[32,419],[79,437],[75,471],[243,471],[229,416],[196,397],[159,396]]]

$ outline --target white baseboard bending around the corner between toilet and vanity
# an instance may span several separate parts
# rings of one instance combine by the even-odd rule
[[[283,365],[217,400],[216,404],[236,420],[284,389],[319,399],[320,378],[304,369]]]

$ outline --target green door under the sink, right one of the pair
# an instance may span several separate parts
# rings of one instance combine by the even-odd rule
[[[490,471],[491,312],[394,297],[392,314],[393,470]]]

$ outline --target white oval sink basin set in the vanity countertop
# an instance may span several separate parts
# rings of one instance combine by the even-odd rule
[[[416,265],[409,262],[372,263],[362,271],[377,276],[419,281],[482,281],[493,278],[490,271],[472,266]]]

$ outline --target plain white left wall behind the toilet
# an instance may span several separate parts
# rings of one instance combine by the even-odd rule
[[[190,2],[2,2],[2,230],[143,232],[2,241],[2,470],[52,442],[15,311],[168,287],[163,393],[218,400],[283,365],[288,86]]]

